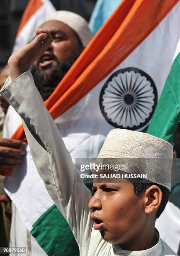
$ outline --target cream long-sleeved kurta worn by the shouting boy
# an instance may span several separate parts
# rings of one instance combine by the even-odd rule
[[[45,108],[30,71],[12,82],[9,77],[1,93],[23,118],[26,137],[37,170],[52,200],[62,212],[76,238],[82,256],[170,256],[177,255],[161,239],[145,251],[124,251],[105,242],[93,229],[88,201],[91,192],[81,182],[60,133]]]

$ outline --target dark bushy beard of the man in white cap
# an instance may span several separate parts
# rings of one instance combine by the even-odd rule
[[[77,59],[77,55],[74,55],[70,60],[59,61],[57,57],[52,54],[53,59],[56,61],[56,65],[47,66],[43,69],[38,68],[39,62],[37,61],[37,67],[32,65],[31,73],[34,79],[35,85],[42,96],[42,99],[45,101],[55,90],[61,79],[65,76],[67,71],[70,69],[72,64]]]

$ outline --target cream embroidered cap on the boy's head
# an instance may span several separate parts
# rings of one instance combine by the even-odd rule
[[[115,159],[128,160],[125,172],[134,174],[139,166],[147,180],[170,190],[173,146],[167,141],[147,133],[114,129],[108,133],[96,163],[117,163]]]

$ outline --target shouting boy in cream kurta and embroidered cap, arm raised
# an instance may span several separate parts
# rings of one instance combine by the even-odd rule
[[[97,182],[93,184],[92,197],[74,170],[70,154],[28,70],[52,42],[48,31],[39,29],[36,34],[30,44],[10,57],[11,77],[1,94],[23,118],[37,170],[69,223],[80,255],[177,255],[155,230],[155,220],[168,200],[171,167],[164,166],[162,161],[156,166],[147,161],[143,171],[153,184],[132,184],[128,179],[125,183]],[[108,134],[98,158],[172,159],[173,147],[145,133],[115,129]],[[165,183],[161,184],[155,169],[158,169],[158,177],[166,177]],[[131,173],[134,172],[131,170]]]

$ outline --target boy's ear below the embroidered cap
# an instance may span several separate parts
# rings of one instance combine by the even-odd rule
[[[145,213],[150,214],[155,210],[158,210],[163,198],[161,189],[153,185],[145,191]]]

